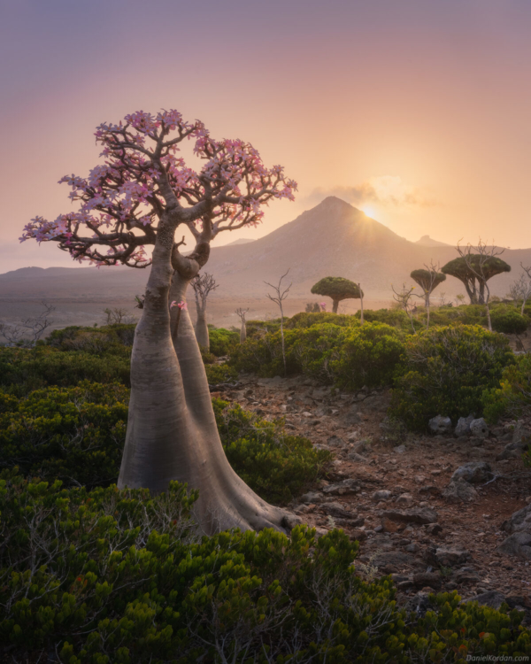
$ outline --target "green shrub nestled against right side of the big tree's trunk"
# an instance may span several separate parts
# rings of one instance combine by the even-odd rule
[[[309,489],[332,460],[301,436],[286,434],[282,421],[270,422],[240,405],[213,399],[219,435],[230,465],[259,496],[286,503]]]

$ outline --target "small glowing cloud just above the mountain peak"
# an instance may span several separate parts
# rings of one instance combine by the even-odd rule
[[[364,180],[354,187],[313,189],[307,200],[310,203],[317,203],[327,196],[336,196],[354,205],[369,202],[396,207],[436,205],[435,200],[425,196],[420,189],[405,184],[399,175],[380,175]]]

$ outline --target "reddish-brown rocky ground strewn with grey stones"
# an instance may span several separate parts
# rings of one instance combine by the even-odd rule
[[[400,437],[386,425],[388,391],[334,395],[304,377],[242,376],[218,396],[285,417],[294,434],[334,452],[328,480],[290,507],[320,530],[357,539],[359,575],[392,575],[412,606],[428,592],[457,590],[531,618],[531,536],[511,535],[521,530],[512,514],[527,506],[531,526],[531,471],[519,449],[525,422],[504,422],[486,437]]]

